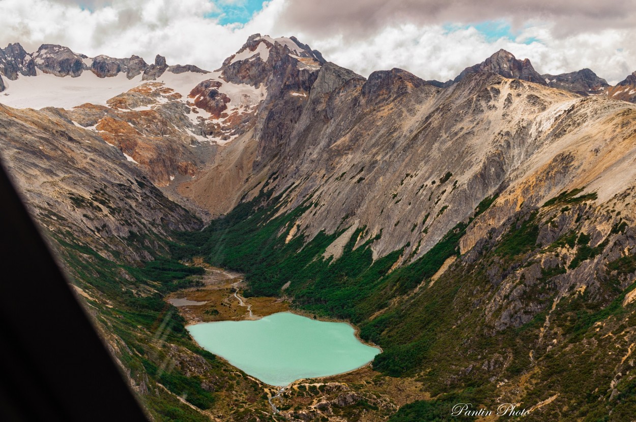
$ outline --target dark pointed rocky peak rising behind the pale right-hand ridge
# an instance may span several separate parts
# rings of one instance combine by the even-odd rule
[[[512,53],[504,49],[500,49],[479,64],[467,67],[453,80],[453,83],[461,81],[469,74],[480,72],[490,72],[503,77],[546,85],[546,81],[534,70],[529,59],[518,60]]]

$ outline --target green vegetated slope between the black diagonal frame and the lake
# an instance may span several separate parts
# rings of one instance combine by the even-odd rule
[[[62,247],[61,258],[71,268],[74,284],[96,298],[88,301],[92,308],[99,309],[97,323],[108,327],[112,334],[109,341],[116,339],[116,354],[129,369],[130,378],[148,388],[149,392],[140,399],[153,418],[156,421],[208,421],[207,416],[185,406],[177,397],[200,409],[217,406],[218,392],[230,388],[230,382],[239,382],[234,376],[232,381],[226,372],[235,370],[195,345],[184,327],[183,317],[163,298],[170,291],[200,284],[197,275],[204,272],[203,268],[188,267],[174,258],[162,256],[138,267],[118,264],[79,244],[72,234],[66,237],[64,240],[53,235]],[[107,305],[102,298],[107,298]],[[164,348],[164,345],[170,347]],[[195,362],[204,369],[203,375],[188,376],[175,366],[175,352],[196,356]],[[204,388],[204,381],[209,383],[209,379],[215,383],[212,390]],[[256,394],[249,385],[251,381],[240,378],[240,382],[244,386],[237,385],[238,391]],[[265,400],[261,401],[266,409]]]

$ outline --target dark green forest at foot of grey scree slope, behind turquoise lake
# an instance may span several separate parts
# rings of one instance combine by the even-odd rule
[[[363,338],[386,347],[385,353],[378,355],[374,362],[376,369],[397,376],[417,368],[429,340],[405,343],[406,339],[387,340],[382,332],[399,315],[385,313],[372,321],[368,321],[368,317],[386,307],[391,298],[405,294],[429,279],[450,256],[459,254],[459,239],[464,235],[467,223],[453,227],[415,262],[389,272],[403,250],[373,261],[370,246],[379,237],[354,249],[356,239],[366,230],[364,227],[354,232],[345,244],[342,256],[335,261],[322,258],[322,253],[346,228],[332,235],[319,233],[308,242],[302,234],[296,235],[285,243],[294,221],[308,208],[307,201],[278,217],[274,217],[278,206],[263,205],[266,201],[279,204],[280,199],[261,191],[254,200],[241,204],[203,232],[181,234],[181,242],[190,246],[174,245],[174,254],[183,257],[188,253],[201,254],[213,265],[242,270],[250,281],[246,296],[279,294],[280,287],[291,282],[286,293],[293,295],[296,306],[317,315],[349,319],[360,324]],[[491,197],[482,201],[475,216],[492,202],[494,198]],[[446,300],[452,300],[452,297],[453,292],[445,296]],[[442,303],[431,305],[431,312],[426,314],[434,315],[432,311]]]

